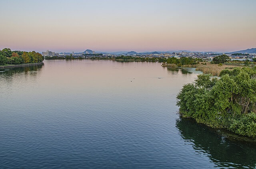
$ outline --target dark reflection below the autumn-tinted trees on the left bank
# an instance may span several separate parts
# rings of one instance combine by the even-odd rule
[[[31,75],[36,75],[40,69],[44,67],[44,63],[40,65],[34,65],[34,66],[23,66],[23,67],[17,67],[17,68],[6,68],[6,69],[0,69],[0,76],[13,76],[17,73],[24,73]],[[33,73],[34,72],[34,73]]]

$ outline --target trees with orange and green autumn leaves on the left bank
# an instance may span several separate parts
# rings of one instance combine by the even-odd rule
[[[9,48],[0,50],[0,65],[39,63],[44,60],[42,54],[32,51],[11,51]]]

